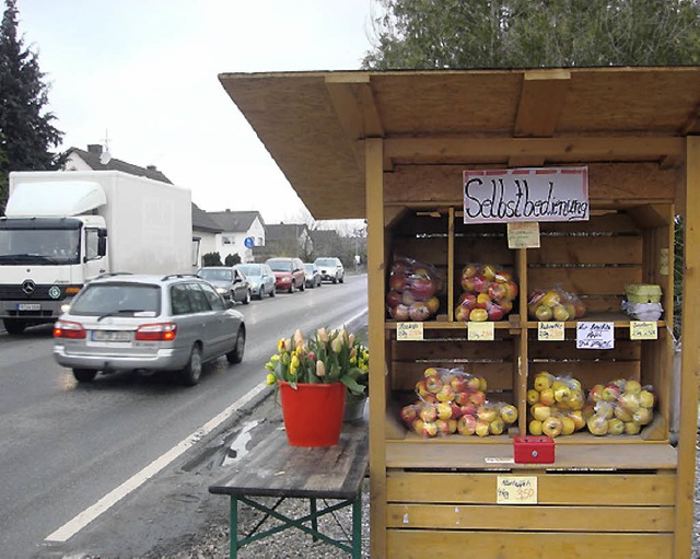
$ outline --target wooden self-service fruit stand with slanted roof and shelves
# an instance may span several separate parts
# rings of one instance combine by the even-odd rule
[[[369,235],[372,557],[689,558],[700,329],[700,68],[221,74],[312,214],[364,218]],[[505,224],[465,225],[465,170],[587,166],[591,219],[540,223],[540,248],[509,249]],[[259,185],[264,187],[265,185]],[[682,360],[672,376],[674,217],[685,216]],[[396,256],[447,279],[424,340],[396,341],[384,296]],[[466,263],[515,271],[521,294],[560,283],[587,321],[615,324],[615,348],[540,342],[526,298],[468,341],[454,321]],[[627,283],[663,288],[655,340],[630,339]],[[339,292],[339,296],[342,293]],[[555,464],[513,464],[513,435],[421,439],[398,419],[427,363],[482,374],[514,403],[542,369],[585,388],[652,384],[655,420],[639,435],[557,439]],[[680,394],[674,404],[674,391]],[[678,417],[677,436],[672,419]],[[676,442],[677,439],[677,442]],[[499,462],[505,459],[505,463]],[[535,504],[497,504],[499,476],[537,480]]]

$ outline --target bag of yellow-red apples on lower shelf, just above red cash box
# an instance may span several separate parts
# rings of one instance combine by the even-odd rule
[[[581,431],[585,426],[585,395],[581,383],[571,375],[555,376],[540,371],[527,391],[529,434],[552,439]]]

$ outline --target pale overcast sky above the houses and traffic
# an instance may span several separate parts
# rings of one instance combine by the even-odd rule
[[[4,5],[4,4],[2,4]],[[207,211],[292,221],[303,205],[219,83],[224,72],[355,70],[374,0],[18,0],[63,145],[108,141]]]

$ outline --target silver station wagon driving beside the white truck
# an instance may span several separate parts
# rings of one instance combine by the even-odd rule
[[[97,372],[176,371],[188,386],[202,363],[240,363],[243,315],[194,276],[109,275],[85,284],[54,326],[54,357],[80,382]]]

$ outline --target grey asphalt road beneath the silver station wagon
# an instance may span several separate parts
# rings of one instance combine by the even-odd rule
[[[243,363],[220,359],[192,388],[131,373],[79,385],[54,362],[49,326],[0,334],[1,557],[135,557],[172,538],[187,524],[185,501],[198,501],[183,487],[201,491],[183,464],[235,428],[280,337],[366,312],[366,276],[237,308],[248,329]],[[163,484],[168,476],[176,484]],[[155,501],[158,522],[152,511],[138,517]]]

